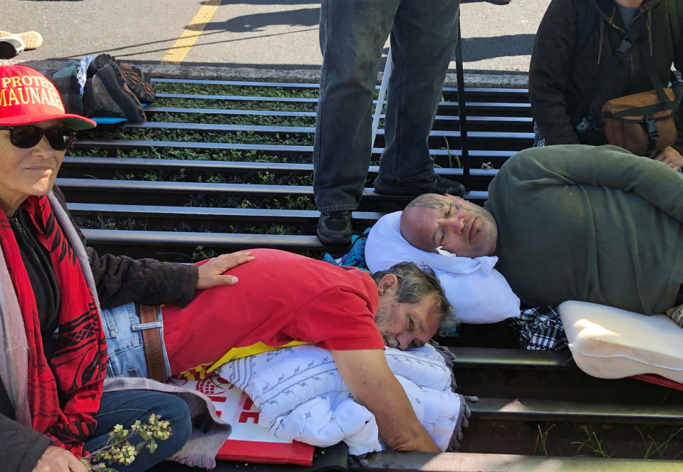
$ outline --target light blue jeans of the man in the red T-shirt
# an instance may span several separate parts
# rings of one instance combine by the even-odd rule
[[[166,375],[170,377],[171,366],[164,345],[164,322],[161,307],[157,306],[157,321],[140,323],[135,303],[102,310],[102,325],[107,339],[107,377],[149,377],[142,330],[160,327]]]

